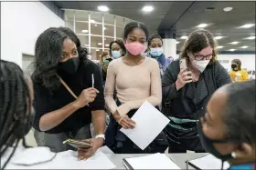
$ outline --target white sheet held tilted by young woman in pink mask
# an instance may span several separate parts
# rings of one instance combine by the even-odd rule
[[[141,105],[132,119],[136,123],[135,128],[121,128],[121,132],[127,135],[142,150],[150,145],[169,123],[169,119],[147,101]]]

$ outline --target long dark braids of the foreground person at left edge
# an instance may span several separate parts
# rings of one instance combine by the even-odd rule
[[[24,139],[27,132],[24,126],[31,115],[31,97],[22,69],[11,62],[1,60],[1,105],[0,105],[0,147],[1,156],[9,145],[16,146],[20,139]],[[26,145],[25,140],[24,145]],[[6,161],[5,165],[9,161]],[[4,165],[4,166],[5,166]]]

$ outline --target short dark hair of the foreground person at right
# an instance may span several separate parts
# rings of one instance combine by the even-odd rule
[[[231,138],[256,143],[255,80],[227,86],[227,108],[224,122]]]

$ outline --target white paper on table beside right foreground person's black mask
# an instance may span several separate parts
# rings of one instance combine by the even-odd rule
[[[221,169],[221,160],[214,155],[206,155],[195,160],[189,161],[200,169]],[[225,162],[223,169],[228,169],[229,163]]]

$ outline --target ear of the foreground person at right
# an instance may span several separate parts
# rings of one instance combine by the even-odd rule
[[[243,158],[243,157],[250,157],[255,156],[255,146],[253,147],[250,144],[242,143],[237,147],[237,149],[232,152],[232,155],[235,155],[234,158]]]

